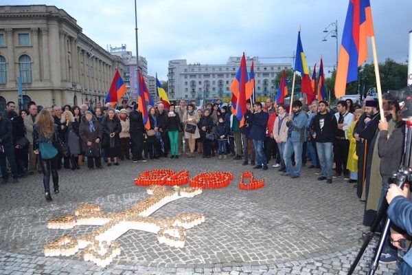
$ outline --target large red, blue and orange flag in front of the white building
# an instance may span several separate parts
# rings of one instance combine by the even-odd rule
[[[233,96],[236,98],[236,107],[233,109],[236,110],[236,118],[240,121],[239,126],[242,127],[244,123],[243,115],[246,113],[246,83],[248,83],[248,74],[246,68],[246,58],[244,58],[244,53],[242,56],[242,60],[240,61],[240,67],[238,69],[238,73],[236,74],[235,78],[230,85],[230,89],[232,91]],[[232,96],[232,100],[233,100]],[[233,103],[233,102],[232,102]]]

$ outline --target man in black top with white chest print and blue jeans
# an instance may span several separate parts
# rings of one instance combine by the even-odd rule
[[[328,112],[328,102],[319,102],[319,112],[313,118],[312,137],[316,142],[319,164],[321,164],[321,176],[318,180],[325,180],[332,184],[332,152],[334,133],[337,127],[336,119]]]

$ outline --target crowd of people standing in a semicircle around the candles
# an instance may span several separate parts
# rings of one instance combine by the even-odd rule
[[[119,159],[146,162],[218,155],[222,161],[233,157],[242,160],[242,166],[262,170],[268,170],[273,159],[272,167],[293,179],[310,161],[307,168],[319,181],[332,184],[343,177],[354,184],[356,195],[365,201],[363,223],[371,225],[404,153],[404,121],[390,94],[385,94],[382,110],[375,98],[367,98],[363,106],[350,99],[339,101],[336,109],[325,100],[308,106],[300,98],[292,102],[290,113],[289,107],[273,104],[270,98],[264,104],[248,100],[246,105],[238,120],[230,104],[220,100],[201,108],[180,100],[179,106],[165,109],[158,102],[148,107],[145,125],[138,105],[127,100],[117,109],[100,104],[93,109],[86,102],[39,110],[30,102],[19,113],[16,104],[8,102],[0,113],[2,184],[9,182],[6,157],[14,184],[19,177],[43,173],[47,201],[52,201],[50,175],[58,193],[58,170],[78,170],[85,159],[87,168],[100,169],[102,160],[118,166]],[[384,121],[380,111],[385,112]],[[384,252],[382,261],[396,257],[393,243],[387,243]]]

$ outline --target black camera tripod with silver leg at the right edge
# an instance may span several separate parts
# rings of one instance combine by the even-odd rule
[[[394,173],[393,177],[389,179],[389,184],[396,184],[400,188],[403,188],[405,183],[412,182],[412,168],[409,168],[409,163],[411,160],[411,148],[412,148],[411,146],[412,144],[412,118],[407,120],[406,127],[407,127],[407,134],[406,134],[403,164],[399,168],[398,172]],[[356,265],[358,265],[359,260],[361,260],[363,253],[365,253],[365,250],[367,246],[369,245],[369,242],[376,235],[376,230],[378,229],[380,221],[382,221],[382,218],[385,216],[387,208],[388,208],[388,203],[385,199],[383,205],[378,210],[378,214],[376,214],[376,218],[374,219],[374,222],[372,223],[369,232],[367,232],[364,236],[364,241],[361,246],[361,249],[356,255],[354,263],[352,263],[352,265],[350,266],[350,270],[347,272],[348,275],[354,272]],[[383,246],[385,245],[385,241],[387,240],[387,236],[389,234],[390,223],[391,223],[391,220],[389,219],[389,217],[385,219],[385,226],[382,228],[382,233],[380,234],[380,239],[378,241],[378,245],[376,246],[374,258],[372,259],[371,264],[369,265],[369,272],[367,274],[370,274],[370,275],[375,274],[376,270],[378,269],[379,257],[380,257],[380,254],[382,253]]]

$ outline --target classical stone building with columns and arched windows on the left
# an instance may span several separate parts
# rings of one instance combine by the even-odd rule
[[[104,103],[115,69],[125,63],[82,33],[65,10],[49,5],[0,6],[0,109],[24,104]],[[23,104],[23,105],[24,105]]]

